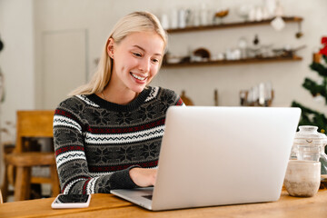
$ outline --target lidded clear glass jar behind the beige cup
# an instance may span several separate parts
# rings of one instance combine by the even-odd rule
[[[295,134],[291,159],[320,161],[322,163],[322,174],[327,174],[327,155],[324,152],[327,136],[318,133],[317,126],[301,125],[299,129],[300,131]]]

